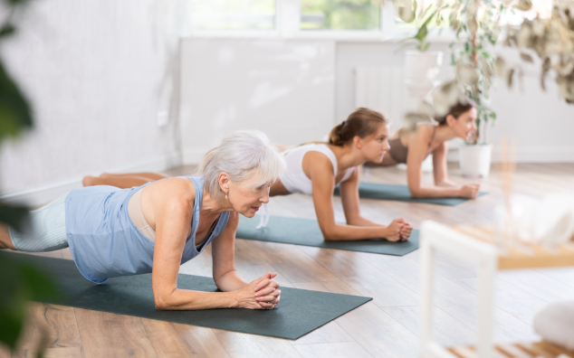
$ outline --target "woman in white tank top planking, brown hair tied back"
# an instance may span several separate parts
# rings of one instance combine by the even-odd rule
[[[283,152],[287,170],[271,187],[270,196],[306,193],[313,196],[325,240],[408,240],[413,227],[405,219],[389,225],[369,221],[359,212],[358,166],[380,163],[389,149],[388,123],[378,112],[359,108],[330,132],[329,143],[298,146]],[[84,186],[131,187],[166,177],[162,174],[102,174],[84,178]],[[143,183],[142,183],[143,182]],[[340,197],[347,224],[335,221],[333,191]]]

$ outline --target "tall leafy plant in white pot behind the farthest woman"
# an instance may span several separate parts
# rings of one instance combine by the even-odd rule
[[[498,41],[499,20],[505,7],[488,1],[456,0],[450,9],[448,19],[457,39],[450,44],[451,65],[456,67],[456,78],[435,90],[432,111],[435,116],[442,117],[457,101],[466,98],[474,101],[478,129],[464,146],[459,147],[459,161],[464,176],[486,177],[490,172],[492,146],[486,143],[483,133],[486,125],[496,119],[496,113],[489,106],[495,79],[492,52]],[[433,114],[427,110],[424,115]]]

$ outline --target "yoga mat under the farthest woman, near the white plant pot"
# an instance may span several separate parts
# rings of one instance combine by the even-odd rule
[[[339,187],[335,188],[335,195],[339,195]],[[484,192],[478,193],[476,196],[483,196]],[[459,203],[468,202],[473,199],[464,198],[429,198],[429,199],[416,199],[411,198],[407,185],[394,185],[394,184],[378,184],[362,182],[359,184],[359,197],[365,199],[379,199],[379,200],[392,200],[396,202],[409,202],[409,203],[433,203],[437,205],[455,206]]]

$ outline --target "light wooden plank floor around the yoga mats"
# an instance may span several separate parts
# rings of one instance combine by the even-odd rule
[[[179,168],[172,174],[187,173]],[[457,165],[449,173],[466,183]],[[371,220],[387,223],[405,217],[417,228],[431,219],[451,224],[490,224],[501,203],[497,168],[482,180],[488,195],[459,206],[362,200],[361,211]],[[432,176],[425,175],[430,183]],[[374,169],[368,181],[405,184],[395,168]],[[544,193],[574,191],[574,165],[518,165],[515,193],[541,197]],[[338,220],[344,220],[335,198]],[[311,197],[294,194],[273,198],[274,215],[313,218]],[[209,248],[207,248],[209,249]],[[278,272],[284,287],[374,297],[297,341],[252,334],[158,322],[84,309],[32,304],[26,333],[13,356],[32,356],[40,333],[50,335],[48,357],[416,357],[420,299],[419,252],[392,257],[361,252],[325,250],[279,243],[237,240],[236,259],[244,278],[267,270]],[[71,259],[68,250],[53,257]],[[211,276],[210,250],[183,265],[180,272]],[[441,344],[475,343],[476,270],[464,261],[440,256],[436,266],[435,335]],[[550,302],[574,297],[574,269],[509,270],[499,274],[496,288],[495,341],[535,342],[531,322]],[[304,305],[301,302],[301,305]],[[0,349],[0,357],[10,354]]]

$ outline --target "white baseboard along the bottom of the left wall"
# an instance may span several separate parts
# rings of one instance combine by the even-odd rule
[[[171,167],[181,165],[181,157],[177,153],[158,156],[141,161],[137,164],[124,165],[110,170],[102,170],[98,173],[86,173],[86,175],[100,175],[101,173],[133,173],[133,172],[163,172]],[[63,181],[45,184],[42,186],[25,189],[13,193],[5,193],[0,196],[3,203],[25,204],[38,206],[50,203],[54,199],[69,193],[73,189],[81,188],[81,179],[84,175],[72,177]]]

